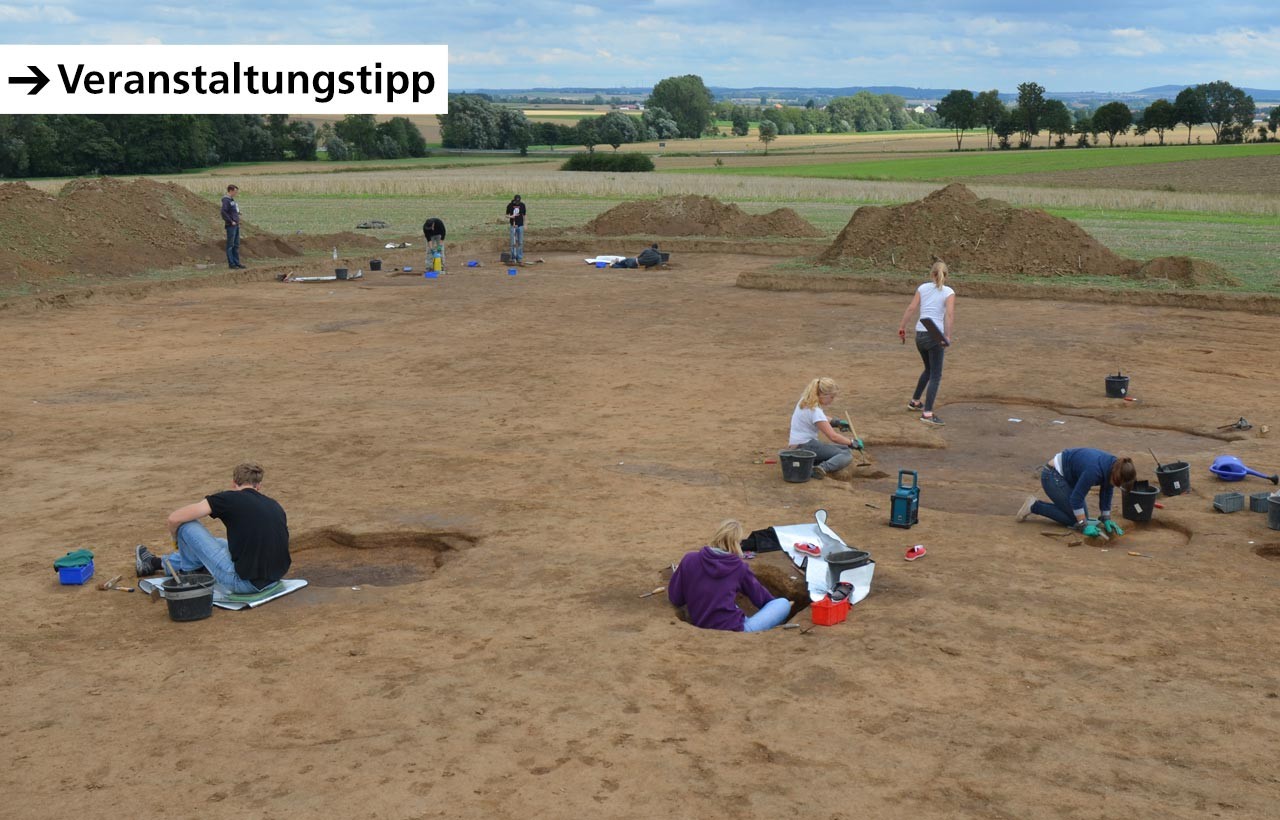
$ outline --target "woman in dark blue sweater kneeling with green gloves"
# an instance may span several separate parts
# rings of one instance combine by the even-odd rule
[[[1043,516],[1064,527],[1075,527],[1091,539],[1098,535],[1124,535],[1124,530],[1111,521],[1111,495],[1114,487],[1132,487],[1138,469],[1129,457],[1116,458],[1111,453],[1089,446],[1062,450],[1041,469],[1041,486],[1048,503],[1029,496],[1018,510],[1018,521],[1029,516]],[[1098,518],[1089,517],[1089,490],[1098,487]]]

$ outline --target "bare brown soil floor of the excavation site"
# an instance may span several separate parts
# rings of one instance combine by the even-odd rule
[[[438,279],[271,279],[328,267],[298,257],[0,312],[6,814],[1274,816],[1280,531],[1213,509],[1274,486],[1208,472],[1280,469],[1272,317],[966,297],[957,258],[932,429],[905,407],[908,293],[739,287],[777,251],[668,229],[653,271],[531,232],[544,261],[516,275],[485,247]],[[908,264],[923,280],[938,252]],[[1106,395],[1117,371],[1134,400]],[[870,463],[788,484],[771,462],[820,375]],[[1188,462],[1190,491],[1107,544],[1015,522],[1082,445],[1152,481]],[[192,623],[96,588],[246,459],[310,586]],[[877,563],[845,623],[699,631],[648,595],[722,518],[819,509]],[[60,586],[74,548],[97,574]],[[751,564],[794,592],[777,553]]]

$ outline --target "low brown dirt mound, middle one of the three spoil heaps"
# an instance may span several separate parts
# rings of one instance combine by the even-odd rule
[[[623,202],[585,225],[598,237],[820,237],[788,207],[760,216],[736,205],[695,194]]]

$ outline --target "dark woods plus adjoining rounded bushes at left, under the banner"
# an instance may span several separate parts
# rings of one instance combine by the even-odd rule
[[[285,114],[4,114],[0,178],[173,174],[224,162],[426,156],[411,120],[352,114],[319,128]]]

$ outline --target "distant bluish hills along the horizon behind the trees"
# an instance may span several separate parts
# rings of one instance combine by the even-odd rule
[[[832,97],[852,96],[859,91],[869,91],[872,93],[892,93],[905,99],[908,102],[937,102],[951,92],[951,88],[916,88],[913,86],[844,86],[838,88],[817,86],[751,86],[750,88],[709,86],[708,88],[717,100],[754,100],[759,102],[759,99],[764,97],[769,102],[797,104],[804,104],[809,100],[822,104]],[[1187,86],[1153,86],[1139,91],[1046,91],[1044,96],[1053,100],[1061,100],[1068,104],[1075,102],[1082,105],[1096,105],[1101,102],[1110,102],[1111,100],[1147,104],[1161,97],[1172,100],[1183,88],[1187,88]],[[566,97],[590,99],[599,95],[605,100],[612,97],[621,97],[623,100],[643,100],[649,96],[652,88],[645,86],[617,86],[612,88],[567,86],[563,88],[468,88],[458,91],[488,93],[494,97],[545,97],[550,100]],[[979,91],[986,91],[986,88],[970,88],[970,91],[977,93]],[[1006,102],[1011,102],[1018,99],[1016,87],[1011,91],[1001,88],[1000,92],[1000,99]],[[1280,102],[1280,91],[1276,90],[1244,88],[1244,93],[1252,96],[1253,101],[1258,105]]]

